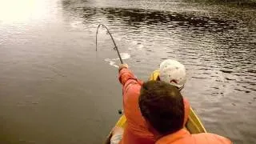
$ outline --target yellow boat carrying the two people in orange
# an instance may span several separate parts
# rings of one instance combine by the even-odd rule
[[[155,70],[152,74],[150,74],[149,80],[157,80],[158,79],[158,70]],[[126,116],[122,114],[122,116],[118,119],[115,126],[122,127],[123,129],[126,128]],[[185,129],[190,132],[190,134],[199,134],[199,133],[206,133],[206,128],[203,126],[200,118],[195,113],[192,107],[190,107],[190,114],[188,120],[185,125]],[[112,137],[111,131],[106,139],[105,144],[110,144],[110,138]]]

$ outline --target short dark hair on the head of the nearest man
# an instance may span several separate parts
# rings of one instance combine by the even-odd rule
[[[143,83],[139,107],[142,116],[159,134],[173,134],[183,127],[184,103],[176,86],[162,81]]]

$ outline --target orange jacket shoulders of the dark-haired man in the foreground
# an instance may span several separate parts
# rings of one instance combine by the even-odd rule
[[[201,133],[190,134],[187,130],[166,135],[158,139],[156,144],[231,144],[232,142],[217,134]]]

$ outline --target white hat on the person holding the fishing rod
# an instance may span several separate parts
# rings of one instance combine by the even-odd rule
[[[178,61],[166,59],[160,64],[159,78],[163,82],[182,89],[186,82],[185,66]]]

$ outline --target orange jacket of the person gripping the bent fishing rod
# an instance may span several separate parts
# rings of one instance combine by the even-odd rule
[[[138,106],[138,97],[142,86],[134,74],[123,68],[119,71],[119,82],[122,84],[123,109],[126,116],[126,129],[122,136],[122,144],[154,144],[154,135],[147,130],[146,122]],[[190,105],[188,101],[185,103],[185,122],[188,118]],[[184,122],[184,124],[185,124]]]

